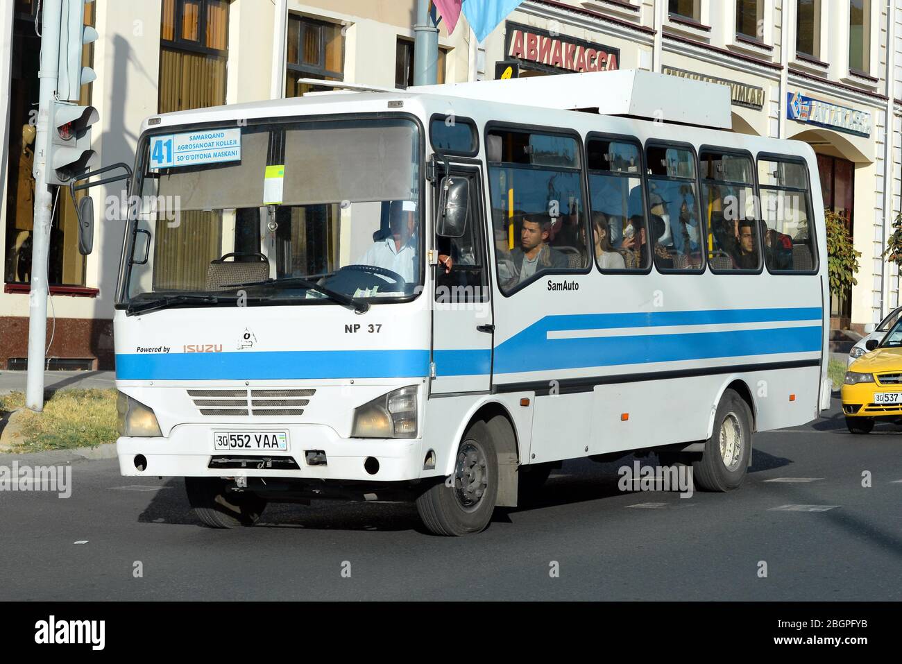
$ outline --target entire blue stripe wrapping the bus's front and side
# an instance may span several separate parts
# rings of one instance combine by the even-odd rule
[[[579,369],[715,357],[819,352],[823,312],[817,308],[713,309],[541,318],[494,349],[494,372]],[[548,339],[548,332],[622,327],[811,321],[804,327],[663,335]],[[286,380],[401,378],[428,374],[428,350],[266,351],[116,355],[119,380]],[[435,351],[438,376],[485,375],[490,349]]]

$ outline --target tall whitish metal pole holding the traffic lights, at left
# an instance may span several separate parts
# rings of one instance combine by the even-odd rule
[[[53,195],[47,186],[47,152],[50,146],[50,106],[56,93],[60,51],[61,0],[42,0],[41,97],[38,130],[34,141],[34,223],[32,226],[32,288],[29,293],[28,376],[25,405],[44,409],[44,345],[47,343],[47,261],[51,244]]]

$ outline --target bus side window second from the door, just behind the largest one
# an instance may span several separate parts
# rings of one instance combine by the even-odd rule
[[[638,144],[601,137],[585,148],[595,261],[603,271],[642,272],[650,264]]]

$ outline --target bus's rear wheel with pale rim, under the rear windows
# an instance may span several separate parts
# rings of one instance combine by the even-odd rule
[[[702,457],[692,462],[695,486],[703,491],[732,491],[742,484],[751,454],[749,404],[732,390],[723,392],[714,413],[711,438]]]

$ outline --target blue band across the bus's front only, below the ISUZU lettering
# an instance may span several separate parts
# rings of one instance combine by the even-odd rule
[[[427,375],[428,350],[307,350],[116,355],[121,381],[404,378]]]

